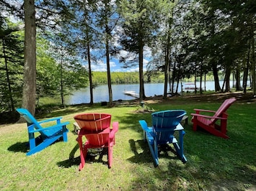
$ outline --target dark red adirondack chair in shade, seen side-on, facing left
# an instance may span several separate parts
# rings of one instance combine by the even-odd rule
[[[191,115],[193,116],[193,131],[196,131],[197,127],[200,126],[201,128],[205,129],[206,131],[210,132],[215,136],[220,136],[223,137],[224,139],[229,139],[229,136],[226,135],[226,124],[228,118],[226,110],[236,100],[236,98],[226,99],[224,103],[221,104],[217,111],[194,109],[195,113],[191,113]],[[206,116],[202,115],[200,112],[214,113],[214,115]],[[218,121],[220,121],[220,123]]]

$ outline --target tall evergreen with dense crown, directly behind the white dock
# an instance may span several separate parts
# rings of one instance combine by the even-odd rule
[[[153,0],[121,0],[118,2],[119,14],[122,17],[120,44],[123,46],[123,50],[136,56],[135,60],[130,60],[130,63],[138,62],[140,101],[146,97],[144,92],[144,47],[153,42],[159,30],[158,15],[161,5],[160,1]],[[127,59],[123,57],[120,61],[127,62]]]

